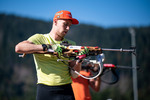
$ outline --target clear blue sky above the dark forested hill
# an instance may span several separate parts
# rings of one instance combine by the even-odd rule
[[[150,25],[150,0],[0,0],[0,13],[46,21],[59,10],[103,27]]]

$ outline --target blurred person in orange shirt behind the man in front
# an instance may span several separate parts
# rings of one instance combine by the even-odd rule
[[[86,67],[93,67],[93,69],[87,69]],[[82,70],[80,71],[80,74],[86,77],[91,76],[90,70],[93,70],[95,72],[98,70],[98,64],[94,64],[94,66],[91,64],[88,64],[86,65],[86,67],[85,69],[82,68]],[[98,76],[95,79],[90,79],[90,80],[87,80],[87,79],[82,78],[81,76],[78,76],[77,78],[72,79],[72,80],[73,80],[72,88],[73,88],[73,92],[74,92],[76,100],[91,100],[92,98],[91,98],[89,88],[91,87],[96,92],[98,92],[100,89],[100,82],[101,82],[100,76]]]

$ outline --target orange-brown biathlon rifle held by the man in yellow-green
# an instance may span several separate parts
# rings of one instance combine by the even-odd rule
[[[83,59],[86,58],[87,56],[96,56],[101,54],[103,51],[116,51],[116,52],[131,52],[133,54],[135,54],[135,47],[132,47],[130,49],[109,49],[109,48],[100,48],[98,46],[73,46],[71,44],[69,44],[67,41],[63,41],[61,44],[61,46],[63,46],[62,48],[62,56],[64,57],[77,57],[76,59]],[[80,55],[79,53],[83,50],[85,50],[85,47],[88,48],[89,52],[88,54],[85,55]],[[49,49],[48,51],[41,51],[38,52],[39,54],[53,54],[53,55],[58,55],[57,52],[55,52],[52,49]],[[35,54],[37,54],[37,52],[35,52]],[[19,55],[19,57],[24,57],[26,54],[23,55]]]

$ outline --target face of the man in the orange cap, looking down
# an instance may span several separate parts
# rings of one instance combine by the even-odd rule
[[[57,20],[56,25],[57,25],[57,35],[63,38],[69,31],[70,26],[72,25],[72,21],[68,19]]]

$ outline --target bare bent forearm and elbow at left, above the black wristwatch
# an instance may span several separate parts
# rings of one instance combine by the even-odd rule
[[[22,41],[15,46],[16,53],[34,53],[38,51],[43,51],[42,45],[35,45],[28,40]]]

